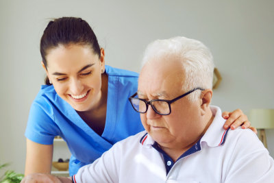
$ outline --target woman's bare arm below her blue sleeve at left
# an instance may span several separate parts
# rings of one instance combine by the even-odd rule
[[[53,145],[42,145],[27,139],[25,175],[30,173],[51,173]]]

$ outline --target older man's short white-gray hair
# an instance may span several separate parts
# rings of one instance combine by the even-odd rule
[[[147,46],[142,58],[142,66],[151,59],[160,58],[168,58],[169,61],[180,60],[182,62],[182,68],[186,73],[183,90],[188,91],[196,87],[212,88],[214,71],[212,53],[199,40],[185,37],[155,40]],[[196,90],[192,95],[190,94],[188,99],[195,101],[200,94],[201,91]]]

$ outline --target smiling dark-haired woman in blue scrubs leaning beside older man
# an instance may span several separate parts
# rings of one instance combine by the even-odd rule
[[[47,78],[29,112],[25,175],[51,172],[54,136],[69,146],[73,175],[114,143],[144,130],[128,100],[138,74],[105,65],[104,49],[86,21],[50,21],[40,53]],[[227,125],[233,121],[240,125],[247,118],[236,110]]]

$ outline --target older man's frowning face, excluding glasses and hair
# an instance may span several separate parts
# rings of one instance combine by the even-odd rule
[[[181,62],[164,59],[150,61],[140,72],[139,98],[171,100],[187,92],[182,90],[185,76]],[[154,141],[163,147],[187,147],[197,141],[203,131],[203,125],[200,125],[200,102],[191,103],[187,97],[183,97],[171,104],[171,114],[167,116],[155,113],[149,106],[147,113],[140,114],[142,125]]]

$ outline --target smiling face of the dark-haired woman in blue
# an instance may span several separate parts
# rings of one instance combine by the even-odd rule
[[[88,45],[59,45],[47,54],[47,76],[56,93],[77,111],[92,110],[101,99],[101,57]],[[45,68],[45,66],[44,66]]]

